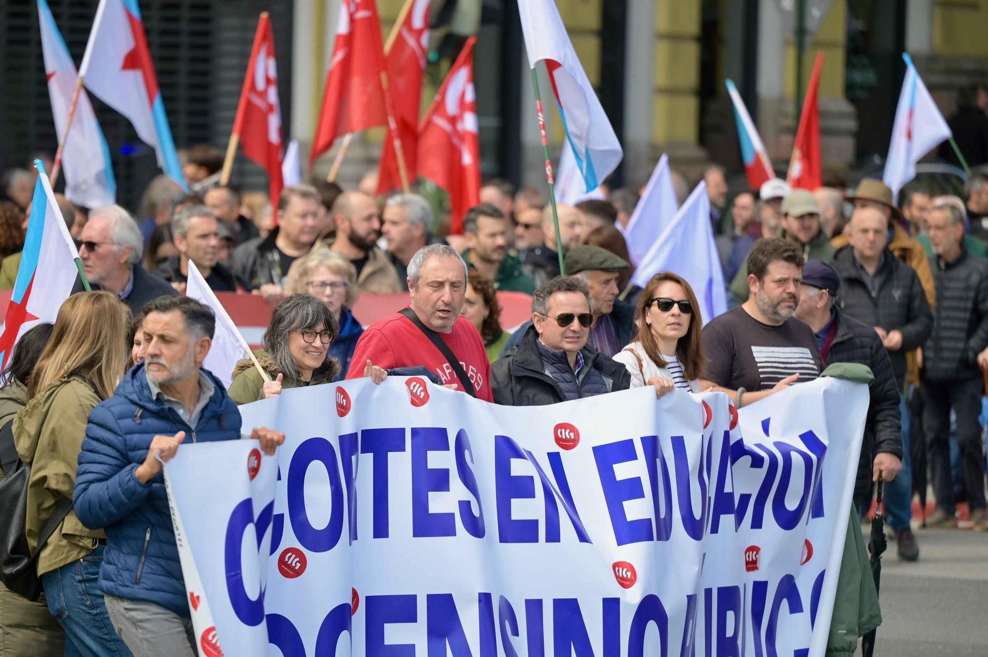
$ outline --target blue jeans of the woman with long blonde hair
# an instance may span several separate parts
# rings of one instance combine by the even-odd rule
[[[130,657],[103,602],[97,546],[86,556],[41,575],[48,611],[65,630],[65,657]]]

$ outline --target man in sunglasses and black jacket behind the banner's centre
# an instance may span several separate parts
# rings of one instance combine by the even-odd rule
[[[495,403],[534,406],[630,388],[623,365],[587,346],[593,315],[582,280],[557,277],[535,290],[532,321],[522,342],[491,368]]]

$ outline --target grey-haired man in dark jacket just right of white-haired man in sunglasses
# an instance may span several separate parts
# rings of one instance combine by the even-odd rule
[[[187,205],[172,217],[171,227],[179,253],[165,260],[155,274],[185,294],[192,260],[213,292],[243,290],[233,272],[219,262],[219,221],[212,210],[206,205]]]

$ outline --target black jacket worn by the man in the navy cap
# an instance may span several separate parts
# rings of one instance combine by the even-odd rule
[[[878,333],[858,320],[848,317],[840,308],[836,313],[837,334],[827,352],[825,365],[860,363],[874,375],[868,386],[870,398],[864,421],[862,456],[858,462],[855,498],[867,493],[871,484],[871,462],[874,455],[887,452],[902,458],[902,420],[899,417],[899,387],[892,374],[889,354],[881,344]]]

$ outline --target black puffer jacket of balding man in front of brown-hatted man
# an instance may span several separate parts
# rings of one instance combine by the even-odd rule
[[[906,352],[921,346],[933,330],[933,315],[919,276],[911,266],[886,250],[875,271],[878,292],[872,295],[851,247],[838,251],[833,264],[841,276],[841,289],[837,295],[841,310],[871,327],[872,332],[874,327],[881,327],[889,331],[898,329],[902,333],[902,347],[888,352],[895,383],[902,390]]]

